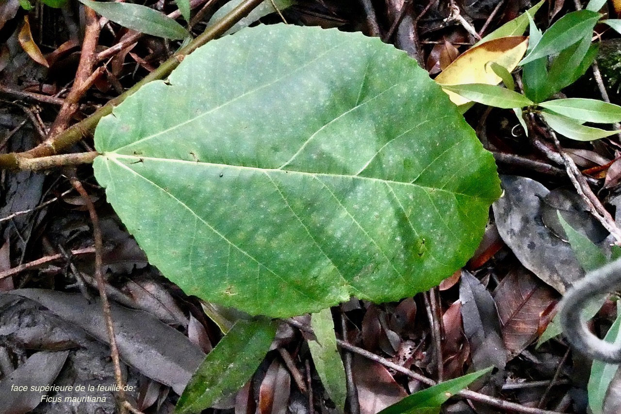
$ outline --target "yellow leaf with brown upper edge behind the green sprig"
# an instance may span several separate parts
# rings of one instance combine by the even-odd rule
[[[498,85],[501,83],[501,78],[494,73],[488,63],[496,62],[508,71],[512,71],[524,57],[527,46],[528,37],[525,36],[501,37],[490,40],[462,53],[440,75],[436,76],[435,81],[443,85],[461,85],[463,83]],[[469,99],[458,94],[446,90],[445,92],[456,105],[469,102]]]

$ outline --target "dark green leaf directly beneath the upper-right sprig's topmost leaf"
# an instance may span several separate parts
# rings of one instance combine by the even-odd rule
[[[598,45],[591,44],[591,34],[587,34],[575,44],[564,49],[552,61],[548,75],[548,98],[574,83],[584,75],[597,55]]]

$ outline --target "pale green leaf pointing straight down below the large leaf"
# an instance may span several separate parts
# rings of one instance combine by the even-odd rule
[[[311,315],[312,330],[317,341],[309,341],[312,361],[317,374],[338,410],[345,410],[347,387],[345,386],[345,368],[337,349],[337,337],[330,308],[325,308]]]

